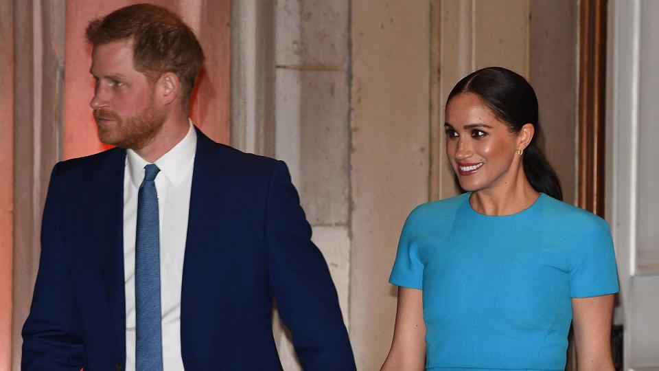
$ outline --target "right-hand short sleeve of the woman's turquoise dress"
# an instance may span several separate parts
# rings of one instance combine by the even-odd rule
[[[601,218],[583,225],[575,240],[570,296],[592,297],[618,292],[618,271],[608,224]]]

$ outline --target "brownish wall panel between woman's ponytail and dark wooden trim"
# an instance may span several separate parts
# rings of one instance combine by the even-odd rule
[[[573,0],[531,1],[529,82],[540,105],[540,148],[556,170],[563,198],[577,188],[578,7]]]

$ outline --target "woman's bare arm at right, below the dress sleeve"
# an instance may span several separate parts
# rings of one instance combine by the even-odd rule
[[[611,357],[613,302],[613,294],[573,298],[577,370],[614,370]]]

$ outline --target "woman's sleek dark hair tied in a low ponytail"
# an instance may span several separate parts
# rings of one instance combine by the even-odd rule
[[[537,97],[535,91],[522,76],[503,67],[487,67],[472,72],[460,80],[451,93],[448,101],[460,93],[473,93],[483,100],[496,117],[505,122],[511,133],[518,133],[524,124],[533,124],[535,135],[531,143],[524,149],[522,165],[531,186],[562,200],[561,184],[546,157],[537,147],[537,137],[540,126],[537,120]]]

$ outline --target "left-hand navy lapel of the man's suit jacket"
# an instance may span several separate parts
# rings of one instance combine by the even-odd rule
[[[126,355],[126,294],[124,286],[124,164],[126,151],[115,149],[99,168],[92,187],[90,239],[106,292],[109,328]]]

